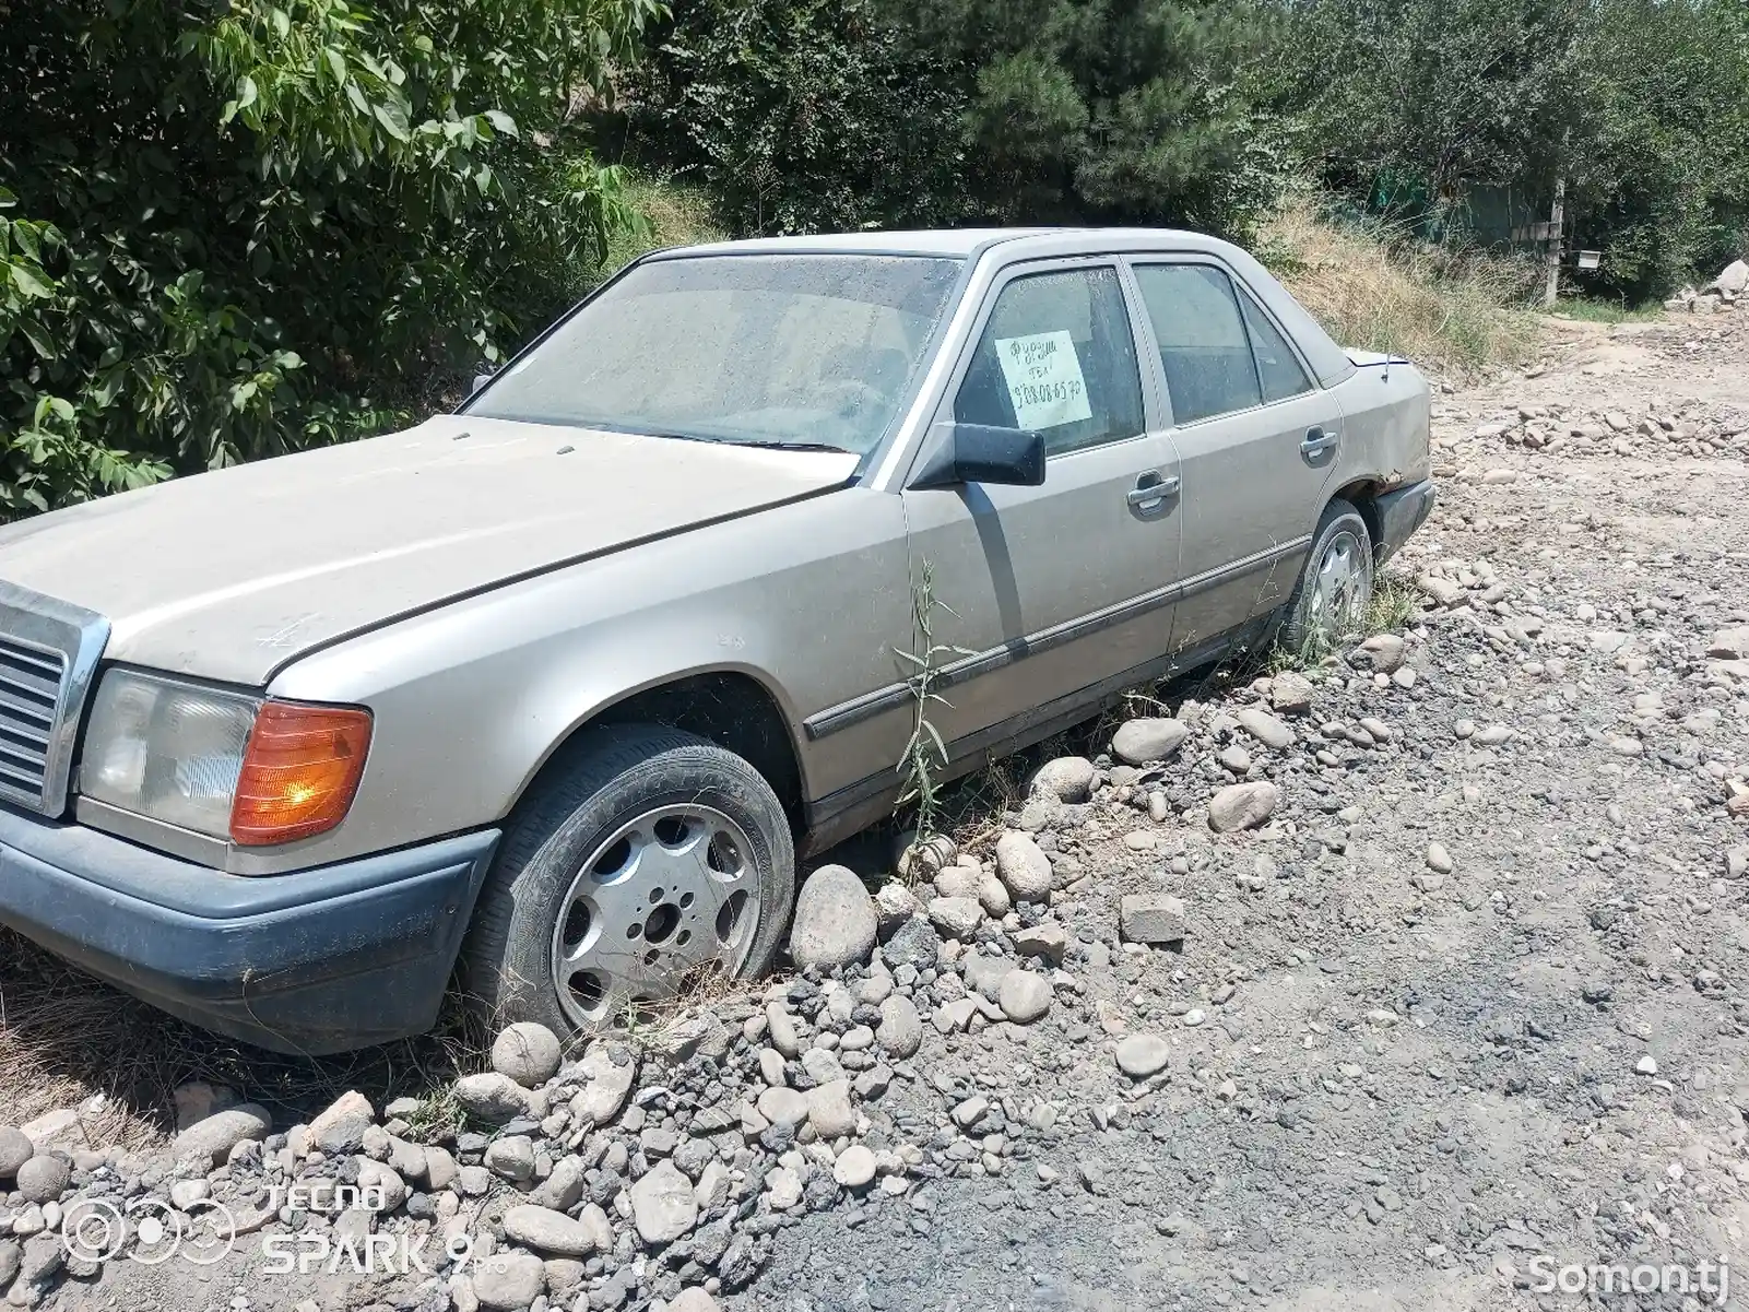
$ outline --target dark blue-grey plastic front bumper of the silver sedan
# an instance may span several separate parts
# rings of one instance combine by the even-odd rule
[[[0,808],[0,924],[196,1025],[346,1051],[437,1020],[497,841],[243,876]]]

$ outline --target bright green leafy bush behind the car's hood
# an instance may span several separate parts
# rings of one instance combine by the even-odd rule
[[[0,518],[378,430],[624,227],[656,0],[0,0]]]

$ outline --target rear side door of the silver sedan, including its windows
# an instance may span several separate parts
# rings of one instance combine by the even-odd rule
[[[1195,663],[1293,593],[1336,469],[1341,408],[1219,262],[1135,257],[1132,273],[1179,453],[1172,647]]]

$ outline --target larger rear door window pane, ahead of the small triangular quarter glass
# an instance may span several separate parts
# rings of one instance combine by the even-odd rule
[[[1195,423],[1263,404],[1231,280],[1207,264],[1142,264],[1142,304],[1160,343],[1172,418]]]

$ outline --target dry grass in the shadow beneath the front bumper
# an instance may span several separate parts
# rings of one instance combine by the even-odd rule
[[[100,1104],[80,1118],[91,1148],[143,1148],[175,1130],[173,1092],[191,1079],[229,1085],[290,1125],[357,1088],[381,1106],[430,1100],[481,1069],[490,1043],[448,1008],[430,1036],[325,1058],[269,1053],[185,1025],[0,929],[0,1120]]]

